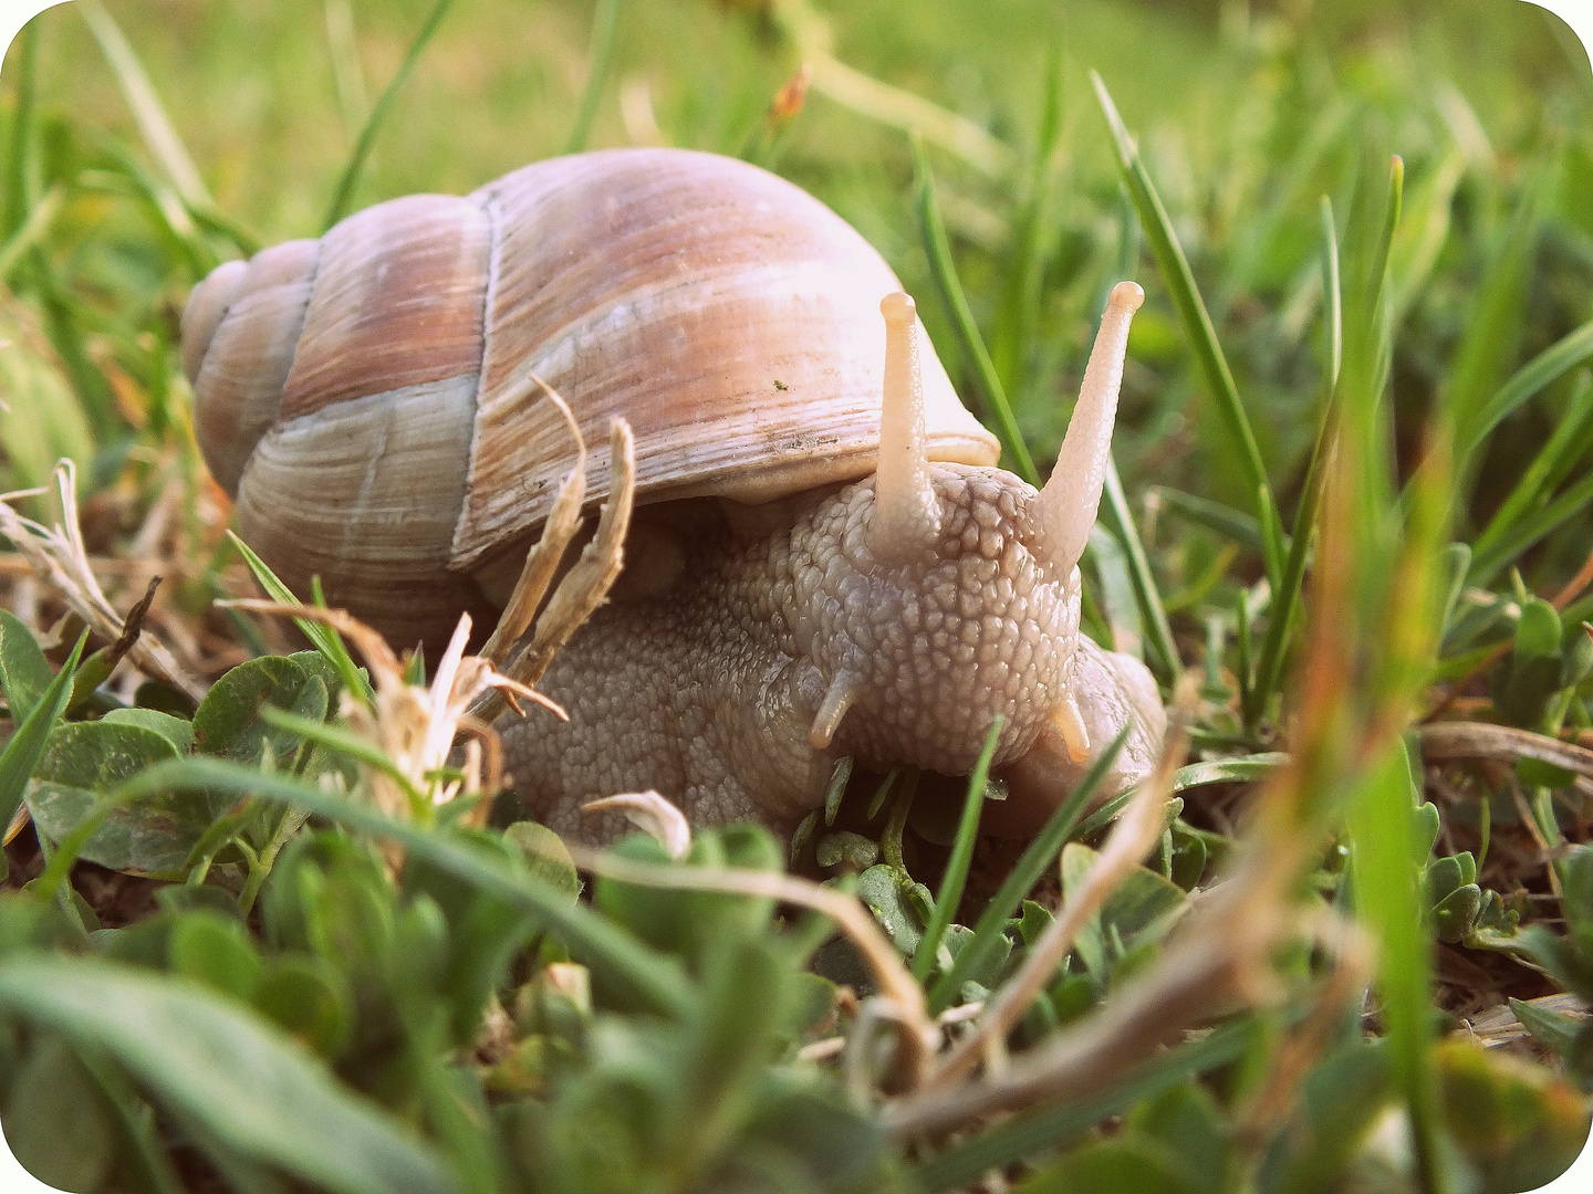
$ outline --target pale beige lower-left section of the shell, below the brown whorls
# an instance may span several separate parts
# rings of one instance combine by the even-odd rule
[[[475,373],[355,398],[285,420],[260,441],[237,490],[239,535],[293,592],[322,578],[389,642],[438,648],[476,587],[446,572],[464,503]]]

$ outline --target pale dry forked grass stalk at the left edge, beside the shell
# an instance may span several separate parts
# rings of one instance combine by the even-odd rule
[[[70,460],[62,460],[56,465],[54,481],[61,501],[61,521],[54,527],[25,519],[13,509],[13,500],[46,492],[25,490],[0,494],[0,533],[16,544],[38,576],[61,591],[67,608],[92,627],[96,635],[113,643],[123,637],[126,621],[99,587],[88,548],[83,546],[83,530],[78,522],[76,466]],[[139,635],[137,642],[129,646],[127,657],[140,672],[175,688],[190,700],[198,704],[204,699],[205,685],[188,675],[151,630]]]

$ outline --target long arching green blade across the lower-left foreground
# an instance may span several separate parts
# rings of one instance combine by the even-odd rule
[[[159,763],[123,783],[107,799],[126,804],[169,788],[202,788],[239,798],[256,796],[327,817],[355,833],[395,842],[411,858],[421,858],[448,871],[483,893],[535,917],[596,976],[623,987],[629,997],[653,1013],[677,1019],[688,1013],[690,989],[674,960],[644,946],[593,909],[567,903],[561,892],[535,877],[507,872],[479,852],[452,841],[446,833],[395,821],[349,796],[327,793],[290,775],[260,772],[226,759],[191,758]]]

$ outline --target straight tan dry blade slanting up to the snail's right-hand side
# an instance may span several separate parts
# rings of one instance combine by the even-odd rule
[[[1101,911],[1107,898],[1123,885],[1123,880],[1161,841],[1168,799],[1172,796],[1172,775],[1179,769],[1187,747],[1188,739],[1180,728],[1168,742],[1155,774],[1145,780],[1139,794],[1123,809],[1112,836],[1107,837],[1094,866],[1090,868],[1083,887],[1063,906],[1040,939],[1034,942],[1023,968],[991,995],[973,1032],[957,1041],[945,1060],[935,1067],[927,1083],[929,1089],[940,1089],[964,1078],[992,1044],[1007,1040],[1007,1033],[1029,1011],[1034,997],[1050,984],[1090,917]]]

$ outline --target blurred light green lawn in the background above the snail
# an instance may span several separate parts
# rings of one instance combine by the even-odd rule
[[[153,401],[162,423],[161,393],[174,384],[182,390],[166,345],[188,287],[213,261],[236,255],[239,240],[249,247],[319,234],[358,131],[433,5],[107,6],[213,210],[247,231],[234,237],[202,226],[190,234],[182,220],[162,215],[172,186],[167,180],[162,201],[162,164],[78,6],[35,21],[41,119],[32,154],[13,153],[13,191],[29,202],[8,202],[8,231],[53,185],[64,188],[40,236],[61,298],[45,331],[68,366],[94,443],[126,446],[139,431],[129,425],[145,417],[139,411]],[[374,137],[352,205],[409,191],[467,191],[562,151],[602,8],[452,3]],[[1117,449],[1129,494],[1163,482],[1239,509],[1254,505],[1209,417],[1160,279],[1131,239],[1136,221],[1090,70],[1101,72],[1139,137],[1286,514],[1322,392],[1317,202],[1327,194],[1343,224],[1372,158],[1399,153],[1407,170],[1392,283],[1402,444],[1416,443],[1445,387],[1497,387],[1590,314],[1593,81],[1571,32],[1518,0],[862,0],[824,8],[623,0],[616,11],[612,68],[588,143],[661,140],[746,153],[819,194],[921,295],[941,357],[975,406],[946,310],[922,301],[933,288],[903,131],[922,124],[922,113],[903,118],[894,105],[903,97],[937,105],[930,123],[954,113],[983,129],[983,159],[948,151],[933,137],[930,159],[975,318],[1042,462],[1064,425],[1110,275],[1126,266],[1150,290],[1136,323]],[[1053,53],[1059,131],[1055,151],[1037,162]],[[11,142],[27,73],[21,54],[19,40],[0,89]],[[841,94],[820,70],[801,111],[769,137],[771,97],[804,60],[832,54],[884,89]],[[1531,202],[1521,215],[1525,197]],[[25,263],[8,266],[27,272]],[[1504,318],[1470,350],[1461,369],[1470,373],[1458,380],[1451,374],[1462,365],[1467,328],[1486,318],[1481,291],[1501,271],[1515,274],[1497,279],[1509,291],[1494,302]],[[124,380],[151,400],[129,400]],[[1507,474],[1518,471],[1512,462],[1542,443],[1571,393],[1568,377],[1494,436],[1470,511],[1475,525],[1507,492]],[[6,439],[13,455],[27,452],[22,430],[13,427]],[[57,439],[83,443],[72,428]],[[35,481],[48,455],[38,446],[37,463],[13,470],[13,479]],[[102,460],[96,476],[115,473],[118,458]],[[1564,551],[1566,560],[1575,554]],[[1560,560],[1555,549],[1545,559],[1552,570],[1574,570],[1580,560]]]

